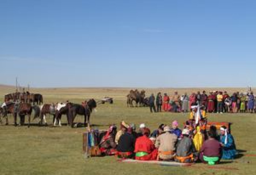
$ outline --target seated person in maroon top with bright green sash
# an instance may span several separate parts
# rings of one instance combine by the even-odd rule
[[[221,159],[221,144],[215,138],[216,133],[208,131],[208,140],[204,141],[199,154],[199,159],[203,163],[214,165]]]

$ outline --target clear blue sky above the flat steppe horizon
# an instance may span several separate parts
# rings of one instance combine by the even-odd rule
[[[0,84],[256,86],[255,0],[1,0]]]

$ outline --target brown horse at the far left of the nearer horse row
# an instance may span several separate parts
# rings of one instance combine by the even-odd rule
[[[6,117],[6,125],[8,124],[8,119],[7,119],[7,114],[12,113],[14,117],[14,126],[17,126],[17,115],[20,117],[20,124],[22,125],[24,123],[24,118],[25,115],[29,116],[29,124],[28,127],[30,127],[30,118],[31,118],[31,113],[33,110],[33,107],[31,104],[28,103],[19,103],[15,104],[13,102],[7,103],[5,106],[5,110],[1,109],[3,111],[4,116]],[[4,107],[3,107],[4,108]]]

